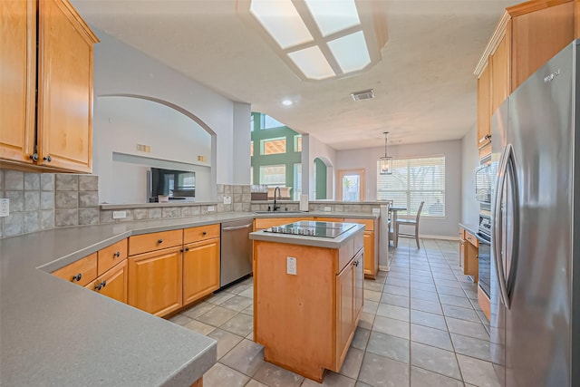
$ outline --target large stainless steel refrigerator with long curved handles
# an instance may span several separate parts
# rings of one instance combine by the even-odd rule
[[[580,386],[579,50],[566,46],[492,118],[490,344],[503,386]]]

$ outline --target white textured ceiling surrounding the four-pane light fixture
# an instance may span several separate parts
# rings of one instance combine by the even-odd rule
[[[275,1],[275,0],[273,0]],[[227,98],[335,150],[460,139],[476,122],[473,70],[505,7],[493,0],[362,0],[383,7],[382,61],[341,80],[301,81],[236,0],[73,0],[92,26]],[[329,0],[332,3],[332,0]],[[374,89],[353,102],[351,92]],[[286,107],[285,99],[295,103]]]

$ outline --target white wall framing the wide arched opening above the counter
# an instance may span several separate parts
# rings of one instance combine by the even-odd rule
[[[94,53],[95,115],[99,111],[98,97],[116,94],[152,97],[189,111],[216,133],[216,150],[212,154],[216,161],[212,165],[215,182],[232,184],[234,165],[238,163],[235,157],[245,158],[234,152],[234,102],[108,34],[96,28],[93,31],[101,40]],[[98,117],[93,135],[95,139],[99,136]],[[247,153],[249,157],[249,147]],[[95,161],[98,164],[99,160]],[[102,175],[99,168],[94,172]]]

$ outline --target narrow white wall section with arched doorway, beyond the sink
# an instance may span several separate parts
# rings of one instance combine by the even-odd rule
[[[328,145],[324,144],[320,140],[317,140],[312,135],[302,135],[303,141],[303,156],[302,156],[302,163],[303,163],[303,170],[304,170],[304,163],[308,166],[308,174],[306,178],[308,179],[308,194],[311,200],[314,200],[314,189],[316,188],[316,182],[314,181],[314,159],[320,158],[324,159],[325,161],[329,162],[331,165],[326,165],[326,174],[330,177],[331,182],[326,187],[326,198],[334,198],[334,181],[335,181],[335,170],[336,170],[336,150],[329,147]],[[304,150],[304,137],[308,138],[308,148]],[[304,156],[307,157],[307,160],[304,160]],[[303,175],[304,176],[304,175]],[[304,177],[303,177],[304,179]],[[303,190],[304,190],[304,182],[303,182]],[[330,195],[329,195],[330,193]]]

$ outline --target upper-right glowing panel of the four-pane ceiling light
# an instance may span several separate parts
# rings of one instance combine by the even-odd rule
[[[323,36],[361,24],[354,0],[304,0],[304,3]]]

